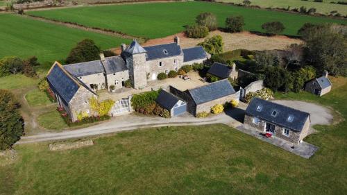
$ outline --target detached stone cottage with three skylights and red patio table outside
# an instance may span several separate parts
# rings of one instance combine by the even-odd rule
[[[294,144],[307,136],[310,121],[307,112],[258,98],[253,98],[249,103],[244,117],[244,124]]]

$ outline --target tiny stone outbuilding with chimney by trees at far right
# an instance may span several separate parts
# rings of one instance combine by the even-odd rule
[[[331,90],[331,82],[328,78],[328,71],[324,71],[323,76],[314,78],[306,83],[305,91],[315,94],[316,96],[323,96]]]

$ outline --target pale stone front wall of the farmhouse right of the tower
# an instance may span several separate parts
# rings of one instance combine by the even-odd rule
[[[176,60],[176,64],[174,63],[174,60]],[[160,62],[162,62],[161,67],[159,66]],[[171,70],[178,71],[178,69],[180,69],[180,67],[182,66],[183,56],[173,56],[170,58],[149,60],[146,61],[146,73],[149,74],[149,80],[157,80],[157,76],[161,72],[165,72],[165,70],[167,70],[167,73],[169,73],[169,71]]]

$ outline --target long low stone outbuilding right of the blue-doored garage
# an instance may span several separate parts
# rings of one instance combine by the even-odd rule
[[[182,92],[170,86],[170,92],[187,102],[187,112],[196,116],[200,112],[210,112],[212,106],[232,100],[239,102],[239,92],[235,92],[228,79],[219,80],[202,87]]]

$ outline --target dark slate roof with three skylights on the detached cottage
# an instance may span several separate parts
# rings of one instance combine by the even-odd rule
[[[259,105],[262,108],[260,111],[257,111]],[[277,112],[276,117],[271,115],[273,110]],[[249,103],[246,109],[246,114],[258,117],[264,121],[269,121],[285,128],[289,128],[291,130],[296,130],[298,132],[303,130],[307,117],[310,117],[310,114],[307,112],[258,98],[252,99],[251,103]],[[288,121],[289,115],[294,117],[292,121]]]

